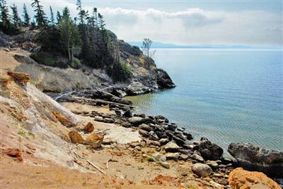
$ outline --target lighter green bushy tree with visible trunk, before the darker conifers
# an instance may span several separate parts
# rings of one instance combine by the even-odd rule
[[[73,20],[70,18],[69,9],[67,7],[63,10],[63,16],[59,23],[60,37],[62,46],[67,51],[69,61],[74,58],[74,46],[79,44],[79,30],[74,25]]]

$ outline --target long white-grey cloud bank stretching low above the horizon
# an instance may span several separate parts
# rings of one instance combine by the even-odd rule
[[[71,1],[58,1],[56,4],[54,1],[42,1],[42,5],[46,13],[49,13],[49,6],[56,11],[68,6],[71,16],[77,16],[76,5]],[[22,3],[18,4],[18,8],[21,10]],[[107,28],[126,41],[141,41],[149,37],[154,41],[175,44],[282,45],[282,16],[279,13],[204,11],[200,8],[166,12],[154,8],[98,7],[98,11],[103,14]]]

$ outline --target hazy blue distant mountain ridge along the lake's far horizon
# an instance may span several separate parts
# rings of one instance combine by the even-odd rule
[[[141,48],[142,42],[129,42],[133,46]],[[175,48],[175,49],[277,49],[277,46],[249,46],[249,45],[226,45],[226,44],[199,44],[199,45],[180,45],[163,42],[153,42],[152,48]]]

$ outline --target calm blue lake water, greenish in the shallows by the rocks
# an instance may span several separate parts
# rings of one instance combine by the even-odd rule
[[[173,90],[127,97],[221,147],[250,142],[283,151],[282,49],[156,49]]]

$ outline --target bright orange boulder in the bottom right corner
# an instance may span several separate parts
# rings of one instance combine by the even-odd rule
[[[264,173],[257,171],[245,171],[242,168],[237,168],[229,174],[229,185],[231,189],[240,188],[270,188],[280,189],[281,187],[268,178]]]

